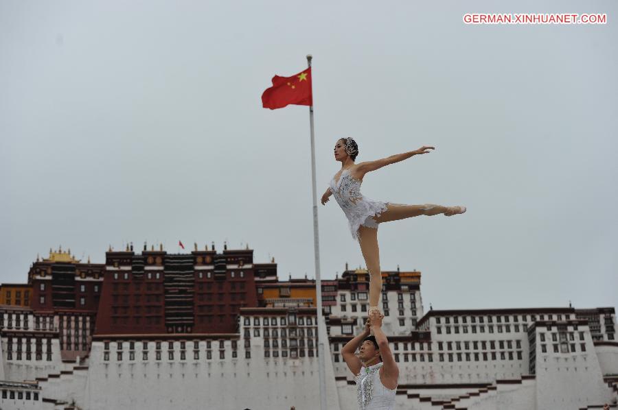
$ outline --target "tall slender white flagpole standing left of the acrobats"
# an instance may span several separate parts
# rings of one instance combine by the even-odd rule
[[[311,54],[307,55],[307,64],[311,68]],[[311,93],[313,94],[313,77],[311,80]],[[325,357],[324,343],[326,341],[325,332],[322,330],[322,285],[320,280],[320,243],[317,224],[317,188],[315,182],[315,138],[313,128],[313,106],[309,106],[309,128],[311,133],[311,178],[313,191],[313,250],[315,254],[315,304],[317,311],[317,330],[318,330],[318,365],[319,365],[319,383],[320,383],[320,407],[321,410],[326,408],[326,374],[325,374]],[[325,329],[324,324],[324,329]]]

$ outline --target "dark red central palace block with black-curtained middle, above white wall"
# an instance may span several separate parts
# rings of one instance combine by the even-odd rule
[[[235,333],[254,269],[253,250],[107,252],[95,334]]]

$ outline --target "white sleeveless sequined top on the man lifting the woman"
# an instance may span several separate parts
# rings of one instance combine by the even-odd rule
[[[380,381],[380,367],[384,363],[361,367],[356,376],[356,396],[360,410],[393,410],[396,389],[387,389]]]

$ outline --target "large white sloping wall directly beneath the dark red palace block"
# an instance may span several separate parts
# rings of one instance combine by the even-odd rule
[[[214,338],[210,349],[206,340],[198,342],[199,359],[194,359],[193,341],[186,341],[185,360],[179,359],[180,341],[172,340],[171,360],[168,341],[162,342],[161,360],[155,356],[156,342],[148,341],[148,359],[144,360],[143,343],[135,339],[135,359],[130,360],[127,339],[120,361],[117,342],[110,343],[107,361],[104,342],[93,342],[85,408],[271,410],[295,406],[311,410],[319,405],[318,357],[265,358],[263,337],[252,337],[249,348],[240,339],[221,339],[222,349],[216,335],[209,338]],[[237,342],[237,358],[232,357],[233,341]],[[211,359],[207,359],[209,350]],[[339,410],[328,343],[325,358],[328,408]]]

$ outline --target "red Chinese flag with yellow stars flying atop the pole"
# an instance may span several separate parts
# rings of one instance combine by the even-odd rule
[[[262,106],[276,110],[288,104],[297,106],[312,106],[311,68],[301,71],[292,77],[273,77],[273,86],[262,94]]]

